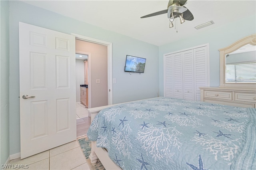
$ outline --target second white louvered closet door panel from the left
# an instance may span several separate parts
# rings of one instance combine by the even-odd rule
[[[182,53],[173,54],[174,98],[183,99]]]

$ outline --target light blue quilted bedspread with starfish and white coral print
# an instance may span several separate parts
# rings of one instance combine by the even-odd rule
[[[104,109],[88,130],[124,170],[256,169],[256,110],[157,97]]]

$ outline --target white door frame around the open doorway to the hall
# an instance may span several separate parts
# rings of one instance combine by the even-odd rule
[[[91,37],[82,36],[82,35],[79,35],[79,34],[74,34],[74,33],[71,33],[71,35],[75,36],[76,39],[78,39],[78,40],[82,40],[82,41],[86,41],[86,42],[92,42],[92,43],[98,43],[98,44],[107,46],[107,57],[108,57],[108,105],[112,105],[113,104],[112,43],[111,42],[105,42],[103,40],[98,40],[96,38],[91,38]],[[90,63],[88,61],[88,65],[89,64]],[[88,79],[88,81],[90,83],[90,79]],[[90,91],[88,91],[88,98],[90,99],[91,93],[90,93],[90,96],[89,96],[89,92]],[[89,103],[88,103],[88,105],[89,105]]]

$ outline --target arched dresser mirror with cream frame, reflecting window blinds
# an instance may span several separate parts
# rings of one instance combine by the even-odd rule
[[[256,34],[220,51],[220,87],[256,88]]]

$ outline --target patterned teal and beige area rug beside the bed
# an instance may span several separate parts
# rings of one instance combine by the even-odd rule
[[[100,162],[100,160],[97,160],[96,164],[91,163],[89,155],[91,154],[92,142],[90,140],[88,140],[87,136],[85,136],[84,138],[78,139],[78,142],[79,142],[80,147],[84,153],[86,162],[87,162],[88,166],[90,167],[90,170],[105,170],[105,168],[102,165],[102,163]]]

